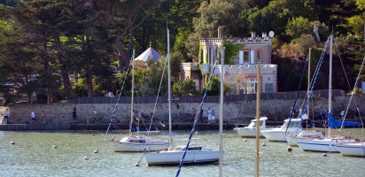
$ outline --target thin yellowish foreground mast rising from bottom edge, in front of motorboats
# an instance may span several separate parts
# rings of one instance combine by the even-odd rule
[[[256,91],[256,176],[259,177],[259,142],[260,142],[260,90],[261,90],[261,79],[260,79],[260,75],[261,75],[261,66],[260,66],[260,62],[258,62],[257,65],[258,68],[258,72],[257,72],[257,91]]]

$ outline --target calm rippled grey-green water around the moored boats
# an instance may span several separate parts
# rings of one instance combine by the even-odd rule
[[[175,140],[186,143],[189,133],[175,132]],[[345,129],[343,133],[359,137],[361,129]],[[175,176],[177,166],[148,166],[144,158],[136,167],[143,153],[114,153],[105,138],[124,135],[116,131],[107,137],[104,134],[105,131],[0,131],[0,176]],[[217,147],[219,143],[218,131],[200,131],[194,138],[207,147]],[[244,142],[234,131],[225,132],[223,176],[255,176],[255,139],[247,140]],[[260,146],[260,176],[350,177],[365,173],[365,158],[338,153],[322,157],[322,153],[299,148],[288,152],[287,143],[260,139],[260,144],[263,142],[267,146]],[[89,160],[84,160],[85,156]],[[218,173],[217,164],[186,165],[180,176],[213,177]]]

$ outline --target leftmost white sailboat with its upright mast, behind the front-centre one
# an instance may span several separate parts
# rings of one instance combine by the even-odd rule
[[[133,50],[133,60],[132,60],[132,97],[131,97],[131,108],[130,108],[130,127],[129,135],[122,138],[120,141],[113,141],[112,147],[114,152],[143,152],[143,151],[158,151],[167,150],[170,146],[170,142],[166,139],[156,139],[151,140],[144,135],[134,135],[142,131],[135,126],[134,116],[135,112],[133,109],[134,102],[134,84],[135,84],[135,50]],[[146,129],[145,131],[150,131]]]

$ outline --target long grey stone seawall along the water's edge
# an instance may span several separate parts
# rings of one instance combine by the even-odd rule
[[[346,107],[350,96],[334,96],[332,98],[332,112],[338,115],[342,110],[342,105]],[[357,104],[360,105],[361,112],[365,111],[364,96],[354,96]],[[289,117],[290,107],[294,100],[261,100],[261,116],[267,116],[268,120],[282,121]],[[299,99],[296,104],[298,112],[299,106],[303,99]],[[319,115],[321,106],[328,106],[328,99],[324,97],[314,97],[311,101],[310,117]],[[194,112],[198,110],[199,103],[179,103],[179,110],[176,105],[172,104],[173,123],[189,123],[194,119]],[[99,123],[108,124],[112,118],[115,104],[14,104],[10,107],[11,124],[29,124],[30,114],[35,111],[35,124],[40,124],[40,113],[44,111],[44,117],[47,125],[68,125],[72,123],[73,108],[77,109],[78,123],[87,124]],[[204,120],[207,119],[207,110],[211,107],[215,111],[216,119],[219,119],[220,105],[218,103],[206,103],[203,106]],[[92,120],[93,110],[97,109],[97,120]],[[154,112],[153,120],[155,122],[167,123],[168,121],[168,104],[135,104],[135,111],[142,112],[144,120],[148,123],[151,120],[151,112]],[[349,116],[355,112],[355,104],[350,105]],[[223,119],[225,123],[237,124],[248,123],[256,116],[256,101],[251,102],[230,102],[224,104]],[[119,104],[113,117],[113,123],[128,123],[130,119],[130,104]]]

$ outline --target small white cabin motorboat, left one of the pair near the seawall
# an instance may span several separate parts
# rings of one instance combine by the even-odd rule
[[[266,120],[268,120],[268,117],[260,118],[259,120],[260,131],[266,130],[268,128],[266,127]],[[256,124],[257,124],[257,119],[252,119],[251,123],[248,126],[235,127],[233,128],[233,130],[236,130],[238,135],[240,135],[241,137],[254,138],[256,137],[256,126],[257,126]],[[264,137],[264,135],[260,133],[260,137]]]

